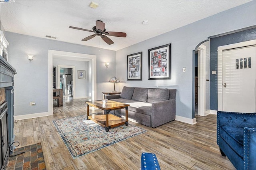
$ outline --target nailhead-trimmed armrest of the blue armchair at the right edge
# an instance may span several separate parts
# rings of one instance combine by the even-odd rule
[[[256,128],[244,128],[245,169],[256,167]]]

